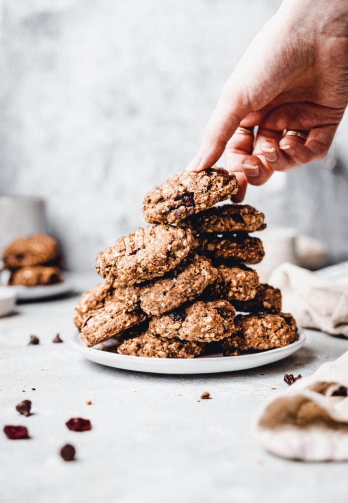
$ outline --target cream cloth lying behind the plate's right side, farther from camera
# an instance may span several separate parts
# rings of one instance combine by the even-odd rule
[[[267,282],[281,290],[283,311],[292,313],[299,325],[348,337],[347,276],[331,281],[285,263]]]

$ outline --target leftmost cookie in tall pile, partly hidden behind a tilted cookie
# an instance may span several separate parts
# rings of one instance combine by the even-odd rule
[[[139,298],[134,287],[100,283],[80,298],[74,310],[74,323],[81,328],[87,318],[108,304],[114,304],[115,308],[118,306],[121,311],[122,309],[133,311],[139,307],[138,303]]]

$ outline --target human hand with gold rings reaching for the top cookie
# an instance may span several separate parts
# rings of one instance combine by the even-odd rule
[[[240,202],[248,183],[324,157],[347,102],[348,0],[285,0],[227,80],[187,169],[202,171],[225,151]]]

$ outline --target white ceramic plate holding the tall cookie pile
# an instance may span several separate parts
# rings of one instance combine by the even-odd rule
[[[118,369],[155,372],[157,374],[210,374],[252,369],[282,360],[302,348],[305,339],[305,334],[300,331],[299,340],[285,346],[285,348],[271,349],[250,355],[223,357],[222,354],[219,354],[198,358],[145,358],[118,355],[117,353],[101,351],[97,346],[87,348],[80,339],[79,333],[74,334],[72,344],[88,360]]]

